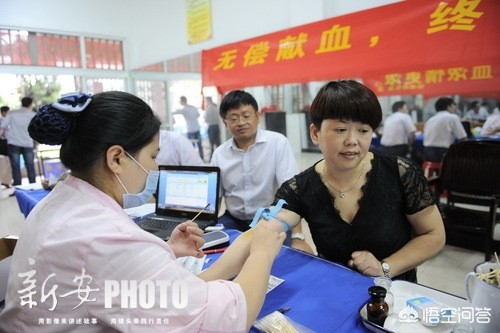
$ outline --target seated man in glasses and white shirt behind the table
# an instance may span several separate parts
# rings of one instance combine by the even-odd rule
[[[220,145],[211,164],[221,170],[220,196],[226,211],[219,217],[228,229],[245,231],[259,208],[269,206],[281,184],[298,172],[288,139],[281,133],[259,129],[257,101],[246,91],[229,92],[221,101],[220,116],[233,137]],[[301,226],[286,244],[312,252]]]

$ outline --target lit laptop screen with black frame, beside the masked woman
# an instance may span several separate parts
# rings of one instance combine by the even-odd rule
[[[219,211],[220,170],[211,166],[160,166],[156,214],[202,220],[216,219]]]

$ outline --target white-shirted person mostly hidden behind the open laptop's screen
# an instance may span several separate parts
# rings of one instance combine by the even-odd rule
[[[167,130],[160,130],[160,151],[156,156],[156,163],[158,165],[205,165],[184,135]]]

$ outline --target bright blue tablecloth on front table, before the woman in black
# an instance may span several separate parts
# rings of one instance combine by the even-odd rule
[[[231,240],[239,234],[226,232]],[[372,278],[285,246],[271,274],[285,281],[267,294],[259,318],[290,307],[286,316],[316,332],[369,332],[358,309],[368,301]]]

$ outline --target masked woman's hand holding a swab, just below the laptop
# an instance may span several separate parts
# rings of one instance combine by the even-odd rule
[[[205,244],[203,230],[194,222],[187,221],[175,227],[167,241],[177,257],[203,257],[199,249]]]

